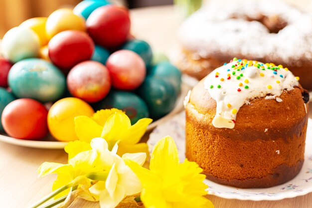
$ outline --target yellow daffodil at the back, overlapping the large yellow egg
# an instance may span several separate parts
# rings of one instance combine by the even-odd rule
[[[75,130],[81,141],[90,143],[96,137],[104,138],[112,150],[118,143],[118,155],[145,152],[149,154],[148,145],[139,143],[152,119],[143,118],[131,125],[129,117],[117,109],[100,110],[91,118],[75,118]],[[138,144],[139,143],[139,144]]]

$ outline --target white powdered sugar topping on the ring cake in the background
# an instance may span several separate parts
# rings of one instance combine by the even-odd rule
[[[243,19],[261,14],[279,16],[288,24],[270,33],[259,21]],[[281,1],[209,3],[183,22],[178,35],[182,47],[194,57],[240,54],[290,66],[301,66],[303,59],[312,61],[312,16]]]

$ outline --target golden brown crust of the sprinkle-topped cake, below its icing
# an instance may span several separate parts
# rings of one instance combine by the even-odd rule
[[[290,180],[304,160],[308,114],[301,93],[301,87],[284,91],[282,102],[254,99],[239,109],[233,129],[215,128],[216,102],[200,81],[186,105],[186,157],[210,179],[231,186],[270,187]],[[270,177],[279,167],[293,174]]]

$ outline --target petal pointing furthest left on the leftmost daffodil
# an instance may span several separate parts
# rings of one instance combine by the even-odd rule
[[[49,163],[44,162],[37,169],[37,173],[39,177],[46,176],[49,174],[58,174],[61,172],[69,172],[72,171],[72,167],[70,165],[65,165],[61,163]]]

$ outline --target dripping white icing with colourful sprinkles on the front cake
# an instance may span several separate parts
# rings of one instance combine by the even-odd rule
[[[299,77],[282,65],[246,59],[234,60],[215,69],[204,80],[204,88],[217,103],[212,125],[234,128],[237,112],[249,100],[267,95],[276,99],[284,90],[298,86],[298,80]]]

